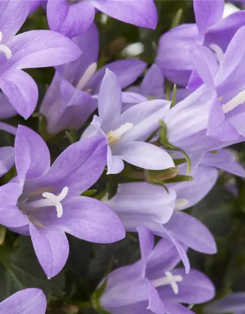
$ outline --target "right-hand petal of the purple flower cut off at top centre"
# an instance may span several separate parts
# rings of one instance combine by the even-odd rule
[[[157,12],[153,0],[100,1],[93,0],[94,6],[103,13],[136,26],[156,28]]]

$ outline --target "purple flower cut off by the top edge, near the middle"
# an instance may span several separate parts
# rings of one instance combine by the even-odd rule
[[[91,26],[96,10],[136,26],[155,28],[157,25],[153,0],[48,0],[49,27],[68,37],[78,36]]]

